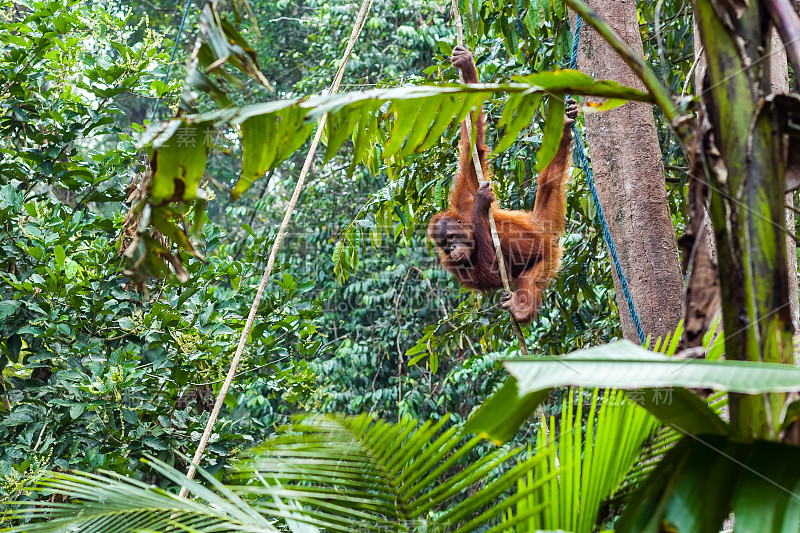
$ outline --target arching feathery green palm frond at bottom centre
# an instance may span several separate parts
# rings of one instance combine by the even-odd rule
[[[303,507],[298,520],[324,523],[331,531],[427,524],[428,530],[465,532],[499,522],[515,501],[498,503],[499,496],[547,455],[521,460],[492,480],[520,449],[496,448],[463,466],[482,439],[462,444],[458,428],[444,429],[445,423],[417,428],[410,418],[389,424],[366,415],[311,415],[248,452],[237,468],[240,484],[232,489],[256,498],[254,505],[267,516],[281,516],[281,499],[296,501]]]

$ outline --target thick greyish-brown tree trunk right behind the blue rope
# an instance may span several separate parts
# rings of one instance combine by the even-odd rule
[[[643,53],[635,1],[586,3],[635,51]],[[644,89],[588,24],[583,25],[580,39],[580,70],[595,79]],[[642,328],[653,337],[671,333],[681,319],[683,282],[653,110],[649,104],[629,102],[611,111],[587,114],[585,124],[597,192]],[[638,342],[613,267],[612,272],[623,334]]]

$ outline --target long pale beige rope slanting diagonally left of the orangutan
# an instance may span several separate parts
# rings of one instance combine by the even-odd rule
[[[356,23],[355,26],[353,26],[353,32],[350,34],[350,40],[347,42],[347,48],[344,51],[342,62],[339,65],[339,69],[336,71],[336,76],[334,77],[333,83],[328,91],[329,94],[334,94],[339,90],[339,86],[342,83],[342,77],[344,76],[345,65],[347,65],[347,60],[350,58],[350,52],[353,51],[353,46],[355,45],[356,39],[364,27],[364,21],[367,20],[367,13],[369,12],[371,5],[372,0],[363,0],[361,4],[361,10],[356,17]],[[197,466],[203,459],[203,453],[208,445],[208,440],[211,438],[211,431],[214,429],[214,424],[216,423],[219,412],[222,409],[222,404],[225,402],[225,396],[227,396],[228,389],[230,388],[233,378],[236,375],[236,368],[239,366],[239,362],[242,360],[242,354],[244,353],[244,348],[247,344],[247,337],[250,335],[250,328],[253,327],[253,322],[255,321],[256,313],[258,312],[258,306],[261,303],[261,297],[264,295],[264,289],[267,286],[267,281],[269,281],[269,277],[272,275],[272,269],[275,266],[275,258],[278,256],[278,248],[280,248],[281,243],[283,242],[283,237],[286,234],[286,228],[289,226],[289,221],[292,219],[292,213],[297,205],[297,200],[300,198],[300,193],[303,190],[303,184],[305,183],[306,176],[308,176],[308,172],[311,169],[311,163],[314,161],[314,154],[317,151],[317,146],[319,146],[320,139],[322,138],[322,132],[325,129],[325,123],[327,120],[328,114],[325,113],[322,115],[322,118],[319,121],[319,125],[317,126],[317,134],[314,136],[314,140],[311,142],[311,147],[308,149],[308,155],[306,155],[306,160],[303,163],[302,170],[300,171],[300,177],[297,178],[297,185],[295,185],[292,198],[289,201],[289,207],[286,208],[286,214],[283,216],[283,221],[278,229],[278,235],[275,237],[275,242],[272,243],[272,250],[270,250],[269,259],[267,259],[267,267],[264,269],[264,275],[261,277],[261,283],[258,285],[258,291],[256,292],[256,297],[253,299],[253,305],[250,306],[250,314],[247,316],[247,322],[245,322],[244,328],[242,329],[242,334],[239,337],[239,345],[236,347],[236,353],[233,356],[233,360],[231,360],[231,366],[228,369],[228,375],[225,377],[225,381],[219,390],[217,401],[214,403],[214,409],[211,411],[211,416],[208,419],[205,431],[203,431],[203,436],[200,438],[200,444],[197,446],[197,451],[192,458],[192,464],[189,466],[189,470],[186,472],[186,477],[188,479],[194,479],[194,475],[197,472]],[[184,485],[181,487],[180,497],[185,498],[188,492],[188,487]]]

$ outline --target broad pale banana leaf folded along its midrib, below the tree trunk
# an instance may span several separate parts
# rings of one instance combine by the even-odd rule
[[[681,431],[717,434],[727,434],[730,428],[686,388],[744,394],[800,390],[800,368],[748,361],[673,359],[627,341],[563,357],[514,359],[504,365],[513,379],[503,385],[498,397],[517,398],[517,403],[527,406],[530,412],[525,416],[509,413],[502,402],[492,397],[467,424],[468,430],[498,441],[508,440],[518,427],[515,424],[532,414],[538,404],[530,398],[557,386],[625,389],[653,414]]]

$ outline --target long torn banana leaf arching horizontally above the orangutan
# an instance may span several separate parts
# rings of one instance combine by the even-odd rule
[[[391,102],[389,115],[395,116],[391,136],[385,147],[385,156],[398,153],[406,156],[415,150],[430,147],[442,134],[444,129],[464,119],[470,109],[480,106],[482,102],[497,93],[508,93],[509,113],[517,111],[517,116],[508,128],[501,147],[507,146],[516,138],[522,127],[530,123],[538,101],[545,94],[554,96],[553,101],[560,108],[563,95],[570,90],[576,94],[600,96],[606,98],[650,101],[647,93],[625,87],[610,81],[595,81],[590,76],[578,71],[560,71],[542,73],[520,78],[520,81],[505,84],[475,84],[411,86],[391,89],[375,89],[341,93],[309,99],[289,99],[253,104],[244,107],[227,107],[225,109],[189,115],[174,119],[150,128],[142,138],[142,143],[153,142],[156,148],[154,157],[169,163],[163,169],[158,168],[154,176],[153,189],[158,191],[155,200],[171,199],[176,194],[189,200],[194,198],[197,189],[197,176],[202,174],[205,165],[205,152],[208,149],[208,132],[212,128],[224,124],[241,126],[242,136],[242,173],[232,196],[238,198],[248,187],[268,170],[278,166],[311,135],[313,124],[323,114],[328,113],[327,138],[328,148],[325,160],[329,160],[339,150],[345,140],[360,130],[374,131],[374,123],[380,123],[385,114],[382,106]],[[517,97],[516,95],[519,95]],[[518,108],[519,98],[524,102],[533,101],[536,105]],[[509,117],[510,119],[510,117]],[[555,133],[561,132],[562,118],[559,112],[554,113],[551,122],[558,123],[557,128],[548,128]],[[556,131],[557,130],[557,131]],[[199,132],[187,137],[187,132]],[[551,150],[553,141],[547,136],[546,150]],[[358,142],[372,143],[374,138],[356,136]],[[555,146],[557,146],[557,139]],[[356,146],[356,150],[363,147]],[[165,152],[161,155],[161,152]],[[185,154],[186,161],[181,158]],[[199,157],[198,154],[203,155]],[[552,157],[545,155],[543,160]],[[192,172],[184,171],[182,165],[191,164]],[[199,166],[198,166],[199,165]],[[197,167],[197,168],[195,168]],[[198,170],[199,169],[199,170]],[[199,174],[198,174],[199,172]],[[177,191],[177,193],[176,193]]]

